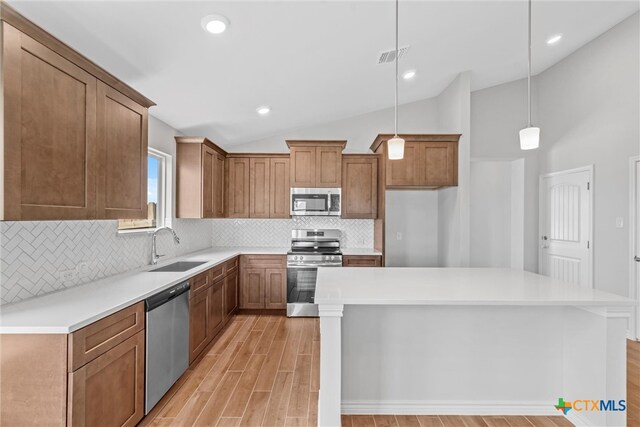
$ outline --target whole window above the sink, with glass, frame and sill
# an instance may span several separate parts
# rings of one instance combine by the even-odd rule
[[[123,232],[149,231],[170,224],[171,156],[149,148],[147,156],[147,218],[118,220]]]

